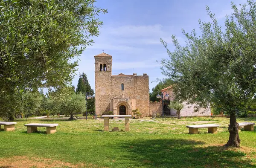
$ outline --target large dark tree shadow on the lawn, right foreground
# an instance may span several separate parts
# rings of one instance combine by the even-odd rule
[[[254,167],[244,153],[224,146],[202,147],[204,142],[184,139],[139,139],[116,144],[128,167]]]

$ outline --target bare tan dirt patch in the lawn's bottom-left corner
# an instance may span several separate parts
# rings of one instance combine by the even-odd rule
[[[95,167],[93,165],[77,164],[73,165],[68,162],[61,162],[46,158],[29,158],[27,156],[14,156],[0,159],[0,168],[84,168]]]

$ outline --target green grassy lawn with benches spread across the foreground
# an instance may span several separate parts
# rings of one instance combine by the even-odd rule
[[[47,135],[45,127],[27,134],[24,124],[32,122],[59,126],[55,134]],[[220,125],[218,133],[188,134],[186,125],[209,123]],[[14,132],[0,131],[0,168],[256,167],[256,127],[239,133],[241,148],[225,148],[228,123],[227,118],[131,119],[130,132],[124,132],[124,120],[111,120],[110,127],[121,131],[104,132],[102,119],[18,120]]]

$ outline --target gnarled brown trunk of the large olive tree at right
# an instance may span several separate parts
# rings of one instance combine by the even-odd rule
[[[230,125],[228,126],[230,132],[229,140],[226,146],[239,147],[240,139],[238,134],[238,123],[236,122],[236,114],[230,113]]]

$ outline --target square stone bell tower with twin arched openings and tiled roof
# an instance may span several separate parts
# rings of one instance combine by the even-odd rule
[[[102,52],[94,56],[95,60],[95,111],[102,115],[110,111],[112,56]]]

